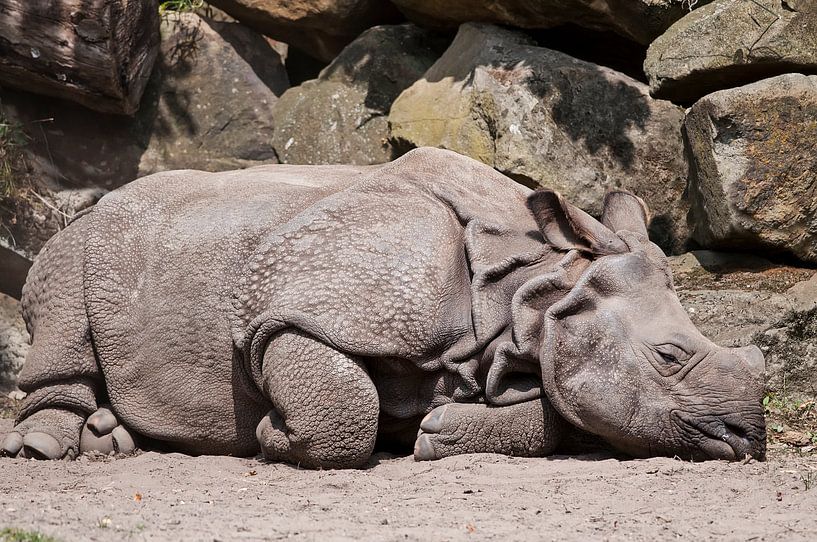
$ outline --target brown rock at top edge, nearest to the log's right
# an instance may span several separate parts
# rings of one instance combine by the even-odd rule
[[[382,0],[209,0],[242,24],[329,62],[358,34],[399,22]]]

